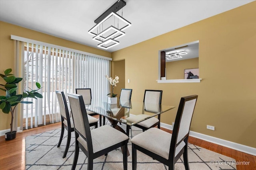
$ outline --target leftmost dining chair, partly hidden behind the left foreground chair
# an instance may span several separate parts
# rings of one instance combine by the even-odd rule
[[[65,158],[67,155],[67,152],[68,152],[69,145],[70,145],[71,132],[74,132],[74,123],[73,123],[72,117],[70,117],[70,114],[69,114],[68,104],[67,104],[64,92],[60,92],[57,90],[55,92],[56,92],[56,96],[58,99],[58,103],[59,103],[59,107],[60,107],[60,115],[61,115],[61,133],[60,133],[60,140],[59,140],[57,147],[60,147],[60,144],[62,142],[62,138],[64,135],[64,129],[66,129],[68,131],[66,149],[62,156],[62,158]],[[95,128],[98,127],[98,119],[88,115],[88,120],[89,120],[90,126],[95,126]]]

